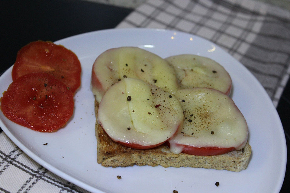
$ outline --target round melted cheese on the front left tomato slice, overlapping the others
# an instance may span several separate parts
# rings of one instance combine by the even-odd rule
[[[150,146],[171,138],[182,125],[183,113],[170,93],[142,80],[125,78],[103,96],[98,122],[114,141]]]

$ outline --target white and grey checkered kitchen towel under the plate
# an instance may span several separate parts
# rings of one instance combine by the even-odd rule
[[[290,73],[290,11],[252,0],[149,0],[118,28],[175,29],[233,55],[276,106]],[[15,177],[17,176],[17,177]],[[0,134],[0,192],[86,192],[38,165]]]

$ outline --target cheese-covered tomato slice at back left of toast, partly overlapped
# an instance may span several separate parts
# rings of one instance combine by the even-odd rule
[[[92,68],[92,92],[98,102],[106,90],[123,78],[137,78],[175,93],[175,71],[165,59],[137,47],[109,49],[100,54]],[[97,86],[98,85],[98,86]]]

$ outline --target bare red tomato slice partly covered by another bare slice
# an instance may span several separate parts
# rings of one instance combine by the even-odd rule
[[[31,72],[46,72],[66,84],[74,93],[81,84],[78,57],[64,46],[35,41],[22,47],[12,68],[12,80]]]

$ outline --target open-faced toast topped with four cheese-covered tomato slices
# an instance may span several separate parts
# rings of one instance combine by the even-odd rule
[[[92,67],[98,163],[246,169],[248,127],[231,85],[205,57],[162,59],[137,47],[103,52]]]

